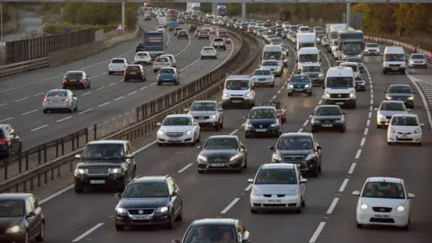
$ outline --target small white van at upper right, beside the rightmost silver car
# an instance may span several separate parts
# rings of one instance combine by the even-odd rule
[[[407,60],[402,47],[386,47],[383,54],[383,74],[389,72],[405,74]]]

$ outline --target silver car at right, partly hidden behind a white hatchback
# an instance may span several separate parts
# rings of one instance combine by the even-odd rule
[[[376,112],[376,128],[385,127],[385,123],[392,120],[395,114],[408,114],[410,109],[407,109],[403,101],[383,101],[379,108],[375,108]]]

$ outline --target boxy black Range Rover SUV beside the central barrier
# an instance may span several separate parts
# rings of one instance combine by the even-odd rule
[[[75,192],[85,188],[115,188],[123,192],[137,165],[127,140],[97,140],[85,145],[75,169]]]

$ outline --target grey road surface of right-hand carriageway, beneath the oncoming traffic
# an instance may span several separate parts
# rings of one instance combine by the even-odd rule
[[[284,132],[309,131],[310,112],[320,103],[322,90],[314,88],[311,97],[287,97],[285,80],[293,70],[293,52],[284,76],[277,79],[275,88],[257,88],[257,103],[279,100],[287,109]],[[322,55],[323,65],[334,61]],[[46,242],[170,242],[181,238],[195,219],[230,217],[242,220],[250,230],[253,242],[383,242],[427,243],[432,238],[432,183],[430,173],[431,130],[427,112],[416,94],[416,108],[425,123],[422,147],[402,145],[389,147],[386,130],[374,127],[374,107],[384,98],[390,84],[410,84],[408,76],[383,76],[380,57],[366,57],[368,83],[365,93],[357,94],[356,110],[347,110],[347,131],[319,132],[315,136],[323,148],[323,173],[310,178],[307,184],[306,208],[302,214],[251,214],[247,178],[257,167],[270,162],[276,139],[245,139],[242,118],[248,110],[225,110],[224,129],[205,132],[202,140],[215,134],[236,134],[247,146],[248,167],[241,175],[199,175],[193,165],[198,150],[192,147],[157,147],[140,149],[135,155],[140,175],[174,175],[184,197],[184,220],[175,229],[139,229],[117,232],[114,229],[114,207],[118,200],[113,193],[75,194],[72,190],[58,194],[43,203],[47,219]],[[331,65],[331,64],[330,64]],[[195,67],[193,67],[194,69]],[[428,76],[429,69],[410,70],[410,74]],[[136,148],[137,149],[137,148]],[[365,178],[374,175],[400,176],[406,179],[410,193],[415,193],[409,232],[393,229],[356,229],[356,198]],[[428,196],[427,196],[428,195]]]

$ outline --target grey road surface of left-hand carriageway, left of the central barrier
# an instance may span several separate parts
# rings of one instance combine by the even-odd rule
[[[145,31],[155,31],[156,21],[139,23]],[[139,38],[140,39],[140,38]],[[210,73],[228,59],[239,47],[229,45],[220,51],[216,60],[200,59],[202,47],[209,40],[177,40],[173,32],[167,34],[167,53],[175,54],[180,85],[187,85]],[[122,43],[114,49],[98,53],[67,65],[52,67],[0,82],[0,123],[10,123],[21,133],[23,148],[32,148],[44,142],[66,136],[73,131],[91,127],[95,123],[130,112],[138,105],[174,91],[175,85],[156,85],[156,75],[148,70],[147,82],[122,82],[122,76],[108,76],[111,58],[127,58],[133,62],[139,40]],[[151,67],[148,67],[151,68]],[[92,78],[91,89],[73,90],[78,98],[78,112],[47,113],[41,103],[49,89],[61,86],[61,79],[69,70],[84,70]]]

